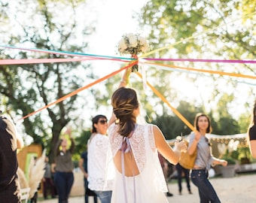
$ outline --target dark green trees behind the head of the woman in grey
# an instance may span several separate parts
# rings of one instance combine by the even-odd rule
[[[177,107],[177,111],[181,113],[186,120],[194,126],[194,118],[197,113],[206,114],[211,120],[212,134],[216,135],[234,135],[241,132],[239,123],[233,119],[233,117],[227,112],[227,105],[229,103],[229,98],[221,98],[218,108],[212,109],[207,112],[203,107],[195,107],[193,104],[181,101]],[[175,115],[170,115],[164,113],[163,115],[157,115],[157,118],[153,120],[154,124],[159,126],[162,130],[163,135],[166,139],[175,139],[178,135],[189,135],[193,129],[188,128],[181,119]],[[243,121],[243,123],[245,123]],[[243,129],[245,132],[246,129]]]

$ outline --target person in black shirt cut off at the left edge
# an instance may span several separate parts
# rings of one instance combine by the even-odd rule
[[[0,117],[0,200],[1,202],[20,202],[20,183],[17,177],[17,149],[23,141],[17,138],[14,123]]]

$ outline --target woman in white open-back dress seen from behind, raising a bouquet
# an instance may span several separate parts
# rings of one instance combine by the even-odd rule
[[[136,91],[124,87],[129,75],[130,68],[111,97],[114,114],[108,123],[108,136],[115,166],[111,203],[167,203],[157,151],[177,164],[181,150],[187,147],[184,141],[177,141],[173,150],[157,126],[137,123],[140,108]]]

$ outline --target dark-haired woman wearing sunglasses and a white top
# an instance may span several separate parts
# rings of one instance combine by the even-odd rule
[[[102,203],[111,202],[111,180],[105,180],[105,164],[108,150],[108,120],[104,115],[93,117],[93,129],[88,141],[88,187]]]

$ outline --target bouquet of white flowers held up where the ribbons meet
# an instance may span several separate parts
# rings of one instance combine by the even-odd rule
[[[134,35],[133,33],[129,33],[123,35],[123,38],[118,43],[120,54],[131,54],[133,58],[137,58],[139,53],[145,53],[148,50],[148,41],[139,34]],[[132,71],[138,71],[138,65],[133,65]]]

